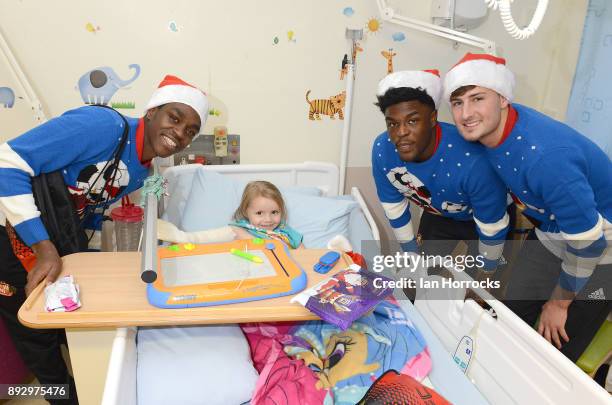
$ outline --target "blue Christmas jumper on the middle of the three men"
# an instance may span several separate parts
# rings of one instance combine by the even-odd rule
[[[436,215],[476,222],[486,268],[494,268],[508,231],[506,187],[481,145],[466,142],[454,125],[440,122],[438,146],[424,162],[403,161],[388,132],[372,147],[378,198],[404,251],[417,250],[410,202]]]

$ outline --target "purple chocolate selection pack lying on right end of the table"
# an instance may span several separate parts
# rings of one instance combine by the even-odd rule
[[[391,281],[352,264],[297,294],[291,302],[299,302],[322,320],[346,330],[393,292],[388,287],[376,288],[374,279],[380,280],[377,285],[382,285],[385,280]]]

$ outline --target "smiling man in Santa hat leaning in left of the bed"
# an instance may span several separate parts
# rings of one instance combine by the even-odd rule
[[[64,364],[63,330],[23,326],[17,311],[41,282],[58,277],[65,254],[54,243],[33,198],[32,178],[60,173],[68,215],[84,229],[99,229],[103,210],[142,187],[150,161],[187,147],[204,127],[206,95],[175,76],[166,76],[148,102],[143,118],[124,117],[110,108],[84,106],[67,111],[0,145],[0,318],[24,362],[41,384],[68,384],[77,404],[74,380]],[[64,187],[65,185],[65,187]],[[71,210],[69,205],[74,205]],[[2,216],[2,215],[0,215]],[[57,246],[56,246],[57,245]],[[86,248],[83,246],[82,248]],[[55,403],[55,400],[51,400]]]

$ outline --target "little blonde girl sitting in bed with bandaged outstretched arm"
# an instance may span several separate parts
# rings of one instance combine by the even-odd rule
[[[174,243],[227,242],[234,239],[278,239],[292,249],[303,247],[302,234],[286,224],[287,209],[278,188],[268,181],[252,181],[242,193],[233,222],[223,228],[184,232],[159,220],[158,239]]]

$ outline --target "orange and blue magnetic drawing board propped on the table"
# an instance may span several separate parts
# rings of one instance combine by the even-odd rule
[[[235,256],[246,251],[262,263]],[[277,240],[236,240],[158,249],[157,280],[147,286],[149,303],[160,308],[231,304],[295,294],[306,273]]]

